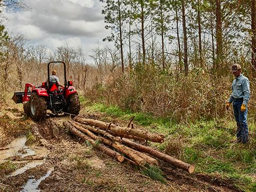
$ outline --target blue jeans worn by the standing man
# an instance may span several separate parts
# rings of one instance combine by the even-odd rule
[[[248,125],[247,125],[247,107],[244,112],[241,111],[242,100],[233,101],[233,110],[236,119],[238,141],[246,143],[249,141]]]

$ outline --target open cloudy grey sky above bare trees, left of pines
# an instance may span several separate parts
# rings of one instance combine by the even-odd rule
[[[22,34],[32,44],[43,44],[54,51],[68,43],[81,46],[87,55],[110,31],[105,29],[99,0],[24,0],[27,9],[6,13],[9,33]],[[91,59],[87,57],[91,62]]]

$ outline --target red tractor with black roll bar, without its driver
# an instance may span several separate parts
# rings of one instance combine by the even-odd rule
[[[64,66],[64,86],[50,82],[51,63],[62,63]],[[15,103],[23,103],[24,112],[34,121],[45,118],[46,110],[49,109],[53,114],[68,113],[78,115],[80,102],[77,91],[72,81],[67,82],[66,64],[62,61],[52,61],[47,65],[47,82],[41,86],[34,86],[26,83],[24,92],[15,92],[12,100]],[[49,83],[48,83],[49,82]]]

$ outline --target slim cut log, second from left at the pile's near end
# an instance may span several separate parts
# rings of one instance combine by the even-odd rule
[[[70,124],[70,123],[69,123]],[[103,137],[98,137],[97,135],[93,134],[91,131],[84,129],[81,126],[77,126],[75,125],[75,127],[77,127],[77,129],[79,129],[80,131],[82,131],[83,133],[86,133],[87,135],[89,135],[89,137],[91,137],[94,140],[99,140],[102,143],[105,143],[108,146],[111,146],[117,150],[119,150],[121,153],[127,155],[129,158],[132,159],[132,161],[134,161],[135,163],[137,163],[140,166],[143,166],[146,164],[145,159],[141,158],[140,156],[138,156],[137,154],[135,154],[133,152],[133,149],[126,147],[124,145],[121,145],[118,142],[115,141],[111,141],[109,139],[103,138]],[[75,129],[74,127],[74,129]]]

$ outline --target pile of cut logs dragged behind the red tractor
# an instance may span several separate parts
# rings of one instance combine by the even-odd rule
[[[139,166],[143,166],[146,163],[151,166],[159,166],[157,159],[161,159],[189,173],[194,172],[195,167],[193,165],[132,141],[162,143],[164,142],[164,135],[135,129],[133,126],[130,127],[130,124],[131,122],[127,127],[121,127],[112,123],[81,117],[75,117],[73,121],[63,122],[63,125],[71,133],[85,141],[89,141],[96,149],[117,159],[119,162],[126,160]]]

